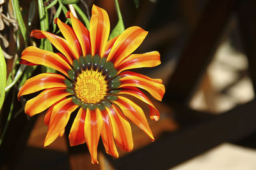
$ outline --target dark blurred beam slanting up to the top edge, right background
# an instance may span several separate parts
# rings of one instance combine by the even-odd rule
[[[209,1],[168,82],[165,101],[188,104],[211,62],[235,4],[235,0]]]

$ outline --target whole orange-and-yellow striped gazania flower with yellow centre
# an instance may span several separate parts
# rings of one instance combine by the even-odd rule
[[[125,96],[136,97],[148,104],[150,118],[159,119],[159,111],[138,88],[161,101],[165,91],[162,80],[126,71],[161,63],[158,52],[131,54],[145,39],[147,31],[129,27],[108,41],[108,14],[95,5],[89,31],[72,13],[67,13],[67,17],[71,19],[72,27],[58,18],[55,20],[64,38],[40,30],[31,32],[35,38],[49,39],[60,53],[29,46],[22,52],[20,61],[29,66],[44,65],[58,71],[29,78],[18,94],[20,97],[42,90],[27,101],[25,113],[33,116],[48,109],[44,122],[49,129],[44,146],[63,135],[70,115],[77,109],[69,142],[71,146],[86,142],[92,163],[98,163],[100,136],[106,152],[114,157],[118,157],[116,145],[125,151],[132,150],[131,126],[127,118],[154,141],[143,110]]]

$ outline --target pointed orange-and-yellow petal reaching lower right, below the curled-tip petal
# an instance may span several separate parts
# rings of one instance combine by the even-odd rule
[[[144,131],[152,139],[152,141],[155,140],[148,125],[147,118],[145,117],[144,112],[140,106],[132,102],[130,99],[122,96],[118,96],[118,99],[113,101],[113,103],[117,104],[124,112],[124,115],[134,124],[138,125],[138,127],[140,127],[140,129]]]

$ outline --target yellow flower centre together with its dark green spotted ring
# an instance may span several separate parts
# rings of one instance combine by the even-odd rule
[[[73,60],[73,69],[68,71],[65,80],[67,92],[73,95],[72,101],[83,108],[96,108],[95,104],[106,105],[105,99],[115,100],[111,96],[113,89],[120,86],[120,77],[116,77],[117,71],[112,62],[99,55],[86,55]]]

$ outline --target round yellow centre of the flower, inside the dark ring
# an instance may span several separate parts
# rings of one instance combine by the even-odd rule
[[[98,103],[104,99],[107,87],[102,73],[93,70],[82,71],[75,83],[76,95],[84,103]]]

